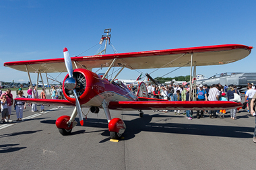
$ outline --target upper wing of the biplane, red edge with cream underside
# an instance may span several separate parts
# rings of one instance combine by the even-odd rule
[[[251,53],[252,48],[251,46],[226,44],[98,56],[77,56],[71,57],[71,60],[76,63],[78,68],[88,70],[97,67],[108,67],[114,58],[117,58],[115,67],[125,65],[125,67],[129,69],[154,69],[160,67],[190,66],[188,63],[191,62],[191,53],[193,53],[193,62],[196,62],[197,66],[224,65],[245,58]],[[64,58],[23,60],[4,63],[5,67],[10,67],[18,71],[26,71],[25,65],[28,66],[27,68],[30,73],[35,73],[36,71],[40,71],[41,73],[67,72]],[[73,68],[75,68],[74,63]]]

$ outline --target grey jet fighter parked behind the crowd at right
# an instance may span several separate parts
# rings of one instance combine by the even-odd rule
[[[199,80],[197,84],[203,85],[212,85],[218,84],[221,85],[236,85],[245,87],[247,83],[256,84],[256,73],[222,73],[218,75],[214,75],[209,79]]]

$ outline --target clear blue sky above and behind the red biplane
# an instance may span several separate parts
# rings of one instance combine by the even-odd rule
[[[26,73],[4,62],[62,58],[96,45],[105,28],[117,52],[164,50],[217,44],[256,47],[256,1],[32,1],[2,0],[0,4],[0,81],[28,82]],[[82,56],[96,54],[100,44]],[[103,48],[103,47],[102,47]],[[101,48],[101,50],[102,50]],[[112,54],[111,46],[107,54]],[[197,67],[210,77],[224,72],[255,72],[255,49],[239,60],[221,66]],[[176,68],[160,69],[160,77]],[[94,69],[93,71],[96,71]],[[104,73],[102,69],[102,73]],[[141,70],[151,73],[154,69]],[[189,67],[166,77],[189,75]],[[66,73],[58,80],[63,81]],[[119,79],[136,79],[139,73],[125,69]],[[57,75],[53,75],[56,77]],[[32,74],[33,82],[36,75]]]

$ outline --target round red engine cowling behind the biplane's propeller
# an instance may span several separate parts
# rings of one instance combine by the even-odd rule
[[[68,77],[69,75],[67,74],[63,84]],[[92,71],[88,71],[86,69],[75,69],[73,70],[73,78],[76,80],[75,90],[77,91],[77,97],[80,104],[87,103],[96,95],[104,92],[104,83],[100,77]],[[65,89],[64,85],[63,95],[68,101],[75,103],[73,90]]]

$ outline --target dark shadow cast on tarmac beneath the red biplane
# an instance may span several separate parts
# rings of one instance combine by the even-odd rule
[[[126,115],[126,114],[123,114],[123,115]],[[127,115],[138,116],[137,114],[127,114]],[[152,118],[154,117],[158,117],[162,119],[152,122]],[[144,114],[143,118],[126,120],[124,122],[127,126],[127,130],[123,134],[123,136],[125,137],[123,140],[129,140],[131,138],[134,138],[135,134],[138,134],[141,131],[172,133],[172,134],[191,134],[191,135],[203,135],[203,136],[219,136],[219,137],[230,137],[230,138],[251,138],[252,135],[249,133],[254,131],[254,128],[241,127],[241,126],[177,124],[177,123],[167,122],[169,120],[172,120],[172,118],[177,118],[177,117],[184,118],[183,115],[168,116],[161,113],[161,114],[154,114],[154,115]],[[245,116],[241,116],[241,118],[244,118],[244,117]],[[75,120],[79,122],[78,118],[75,118]],[[187,120],[187,121],[193,121],[193,120]],[[46,124],[55,124],[55,120],[43,120],[41,122]],[[78,123],[77,126],[81,126],[81,125],[79,125]],[[95,132],[103,131],[101,135],[108,136],[108,138],[100,142],[106,142],[110,139],[109,132],[108,132],[108,124],[106,123],[105,119],[88,119],[88,120],[84,119],[84,126],[106,128],[106,130],[96,130]],[[88,133],[88,132],[78,131],[78,133]],[[72,132],[71,134],[75,135],[76,133]]]

